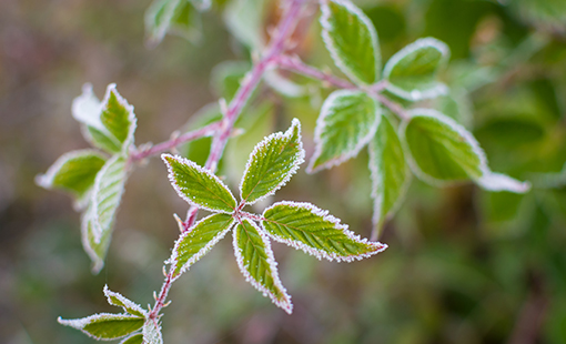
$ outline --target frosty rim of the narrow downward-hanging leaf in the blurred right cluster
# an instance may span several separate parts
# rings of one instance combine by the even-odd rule
[[[383,119],[382,119],[381,123],[383,123]],[[393,127],[393,129],[395,129],[395,127]],[[397,135],[398,135],[398,133],[397,133]],[[402,140],[400,140],[400,141],[401,141],[401,146],[403,149],[403,142],[402,142]],[[378,178],[380,171],[377,171],[377,169],[376,169],[376,163],[374,161],[374,154],[372,153],[372,151],[373,151],[372,144],[368,144],[367,149],[370,151],[370,154],[368,154],[370,155],[368,168],[370,168],[370,178],[372,180],[372,193],[371,193],[371,196],[374,200],[372,223],[373,223],[374,226],[382,226],[383,223],[385,221],[387,221],[387,219],[390,216],[393,216],[393,214],[395,214],[397,212],[397,210],[401,208],[401,204],[403,204],[403,200],[405,199],[405,195],[406,195],[406,193],[408,191],[408,186],[411,185],[411,180],[412,180],[412,178],[411,178],[411,169],[410,169],[408,164],[406,163],[406,154],[404,154],[405,155],[405,174],[406,174],[406,178],[403,181],[403,185],[401,188],[401,192],[400,192],[400,195],[398,195],[397,200],[395,200],[395,203],[393,204],[393,206],[390,209],[390,211],[387,213],[382,214],[383,195],[378,195],[376,193],[376,188],[375,188],[375,185],[381,181],[381,179]],[[405,150],[403,150],[403,152],[405,153]]]

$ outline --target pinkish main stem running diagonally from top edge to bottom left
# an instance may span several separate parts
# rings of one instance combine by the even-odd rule
[[[285,44],[287,39],[293,33],[296,22],[299,21],[301,14],[301,8],[305,0],[293,0],[290,2],[287,12],[285,17],[281,20],[280,26],[274,34],[271,45],[267,48],[267,51],[263,55],[263,58],[253,65],[252,70],[247,73],[247,75],[242,81],[240,89],[237,90],[234,99],[230,102],[228,110],[224,113],[224,118],[221,122],[219,122],[219,127],[215,128],[214,139],[212,141],[211,152],[209,154],[209,159],[206,160],[205,168],[210,169],[212,173],[216,171],[218,162],[222,156],[224,151],[224,146],[226,145],[228,139],[230,138],[230,133],[234,127],[234,122],[237,117],[242,112],[243,107],[250,99],[253,90],[260,83],[263,73],[271,67],[273,61],[276,60],[279,55],[281,55],[285,50]],[[196,208],[191,208],[188,212],[188,219],[185,221],[185,231],[194,223],[196,219]],[[155,300],[155,305],[149,315],[150,318],[156,320],[163,307],[169,291],[171,290],[171,284],[173,283],[173,273],[175,270],[175,264],[173,263],[171,269],[169,270],[168,275],[165,276],[165,281],[161,287],[159,296]]]

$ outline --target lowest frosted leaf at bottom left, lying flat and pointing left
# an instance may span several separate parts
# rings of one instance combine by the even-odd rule
[[[65,326],[80,330],[97,340],[118,340],[140,330],[145,320],[127,314],[101,313],[73,320],[58,318]]]

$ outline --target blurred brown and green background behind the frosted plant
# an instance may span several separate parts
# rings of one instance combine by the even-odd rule
[[[566,343],[566,2],[356,3],[377,28],[384,61],[425,36],[451,47],[442,79],[452,92],[424,105],[466,125],[494,171],[530,180],[534,190],[436,189],[413,179],[385,227],[382,241],[390,249],[352,264],[320,262],[275,243],[293,315],[244,281],[231,239],[224,239],[173,286],[165,343]],[[162,262],[179,234],[172,214],[186,211],[162,162],[151,159],[128,182],[105,267],[90,273],[72,200],[33,182],[64,152],[88,146],[70,111],[81,85],[91,82],[102,98],[115,82],[135,107],[137,143],[168,140],[218,115],[210,103],[232,97],[250,65],[250,48],[280,17],[274,1],[215,1],[193,18],[190,40],[168,36],[150,47],[149,6],[0,0],[1,343],[94,343],[57,317],[115,312],[103,297],[104,284],[142,305],[153,303]],[[294,52],[335,70],[317,18],[313,10],[301,23]],[[257,26],[255,36],[239,22]],[[283,77],[295,89],[263,84],[237,123],[245,133],[229,143],[220,172],[233,188],[253,145],[286,129],[293,117],[302,121],[312,154],[315,120],[331,90]],[[201,140],[180,152],[202,162],[206,145]],[[300,170],[271,201],[313,202],[368,236],[368,190],[362,152],[317,175]]]

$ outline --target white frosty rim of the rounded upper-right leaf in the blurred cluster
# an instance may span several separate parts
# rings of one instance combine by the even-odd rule
[[[391,57],[387,63],[385,63],[385,68],[383,69],[383,79],[388,80],[393,68],[403,58],[424,47],[432,47],[438,50],[442,54],[438,68],[443,68],[444,65],[446,65],[451,54],[448,45],[446,45],[446,43],[444,43],[443,41],[439,41],[432,37],[421,38],[414,41],[413,43],[407,44],[405,48],[401,49],[393,57]],[[433,99],[438,95],[445,95],[448,93],[448,88],[442,82],[437,82],[436,87],[426,91],[418,90],[418,92],[407,92],[392,83],[387,83],[387,90],[393,94],[410,101]]]

